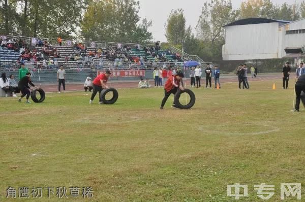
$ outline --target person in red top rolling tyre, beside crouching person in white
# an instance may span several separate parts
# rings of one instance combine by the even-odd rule
[[[90,102],[89,104],[91,105],[93,100],[94,100],[94,97],[96,96],[96,94],[99,92],[99,97],[100,97],[100,104],[103,104],[102,103],[102,100],[101,100],[101,92],[103,90],[103,88],[105,89],[108,89],[109,87],[106,85],[107,81],[108,81],[108,77],[110,77],[111,75],[111,72],[108,70],[106,71],[105,74],[100,74],[99,76],[97,76],[94,80],[93,80],[93,93],[91,95],[91,98],[90,98]]]

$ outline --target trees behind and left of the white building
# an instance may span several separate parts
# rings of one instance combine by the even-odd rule
[[[208,0],[204,2],[194,32],[186,25],[182,9],[172,10],[165,24],[168,43],[185,52],[200,56],[205,61],[222,60],[224,25],[245,18],[269,18],[295,21],[305,18],[305,2],[288,5],[273,4],[271,0],[246,0],[234,9],[230,0]]]

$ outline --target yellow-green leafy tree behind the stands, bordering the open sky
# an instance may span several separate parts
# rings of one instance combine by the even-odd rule
[[[139,2],[135,0],[90,1],[81,21],[85,39],[113,42],[148,42],[153,39],[151,21],[140,22]]]

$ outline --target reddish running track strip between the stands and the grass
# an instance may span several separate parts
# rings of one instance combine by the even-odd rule
[[[269,75],[262,75],[258,76],[257,78],[251,78],[248,77],[248,81],[265,81],[265,80],[276,80],[276,79],[281,79],[281,74],[269,74]],[[237,77],[235,76],[224,76],[223,78],[220,79],[221,83],[230,83],[230,82],[238,82]],[[138,87],[139,81],[113,81],[110,84],[108,83],[109,86],[113,88],[137,88]],[[154,80],[149,80],[150,85],[154,86]],[[187,85],[190,85],[190,79],[186,80]],[[205,78],[201,78],[201,84],[202,86],[205,86]],[[214,84],[214,78],[212,78],[212,85]],[[36,85],[39,85],[36,83]],[[45,92],[57,92],[58,89],[58,84],[57,83],[52,83],[52,84],[44,84],[42,83],[40,86]],[[73,83],[69,84],[68,82],[66,83],[66,91],[82,91],[84,90],[83,88],[83,83]]]

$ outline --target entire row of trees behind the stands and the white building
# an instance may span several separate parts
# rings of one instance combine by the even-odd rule
[[[294,21],[305,17],[305,2],[273,4],[271,0],[246,0],[234,9],[231,0],[206,0],[194,30],[186,25],[184,10],[172,10],[165,24],[168,43],[199,55],[221,60],[225,24],[262,17]],[[148,43],[152,21],[139,16],[137,0],[0,0],[0,34],[86,39],[92,41]],[[157,39],[158,40],[158,39]]]

